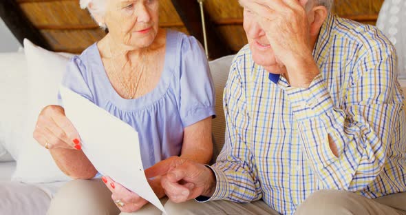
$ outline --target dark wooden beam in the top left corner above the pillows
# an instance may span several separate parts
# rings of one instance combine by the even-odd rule
[[[36,45],[48,50],[51,49],[39,30],[25,17],[15,0],[0,1],[0,17],[21,45],[23,45],[24,38],[27,38]]]

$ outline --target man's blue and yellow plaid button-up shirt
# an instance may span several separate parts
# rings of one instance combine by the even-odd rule
[[[321,74],[303,89],[256,65],[248,45],[237,54],[224,90],[226,143],[211,167],[217,186],[210,200],[262,198],[292,214],[317,190],[367,198],[406,191],[394,47],[374,26],[330,14],[313,56]]]

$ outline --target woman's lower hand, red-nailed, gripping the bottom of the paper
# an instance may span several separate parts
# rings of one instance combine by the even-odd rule
[[[136,212],[148,203],[147,200],[141,198],[138,194],[127,190],[127,188],[116,183],[108,176],[103,176],[102,180],[111,191],[111,198],[121,212]]]

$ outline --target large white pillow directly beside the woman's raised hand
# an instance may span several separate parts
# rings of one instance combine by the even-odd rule
[[[67,181],[70,178],[59,170],[50,153],[34,140],[32,132],[42,108],[58,104],[58,87],[70,58],[37,47],[28,39],[24,40],[24,50],[28,63],[27,121],[21,133],[22,145],[12,179],[25,183]]]

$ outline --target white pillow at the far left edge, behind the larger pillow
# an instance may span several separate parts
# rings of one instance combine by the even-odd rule
[[[27,115],[27,63],[23,52],[0,53],[0,143],[15,159]]]

